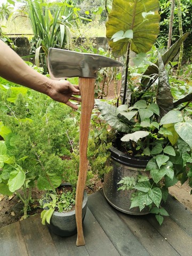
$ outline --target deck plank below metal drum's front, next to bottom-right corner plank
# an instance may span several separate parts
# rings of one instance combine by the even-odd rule
[[[151,256],[177,256],[179,253],[162,237],[146,220],[146,215],[133,216],[118,212],[119,217],[126,223],[132,233]]]

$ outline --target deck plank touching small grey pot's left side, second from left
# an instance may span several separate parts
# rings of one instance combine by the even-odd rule
[[[59,256],[49,230],[42,225],[39,214],[22,220],[20,226],[29,256]]]

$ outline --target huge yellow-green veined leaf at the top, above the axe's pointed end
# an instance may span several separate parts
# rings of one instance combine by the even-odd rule
[[[159,34],[158,0],[114,0],[106,22],[107,38],[115,57],[123,56],[131,40],[135,53],[147,52]],[[113,42],[111,37],[118,31],[133,30],[133,39],[123,38]]]

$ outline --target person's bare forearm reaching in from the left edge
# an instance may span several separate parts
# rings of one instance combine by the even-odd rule
[[[0,76],[5,79],[47,94],[51,89],[50,79],[37,73],[17,53],[0,39]]]

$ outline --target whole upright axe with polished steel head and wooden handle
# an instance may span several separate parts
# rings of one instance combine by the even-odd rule
[[[103,67],[123,66],[121,62],[98,54],[79,53],[61,49],[49,49],[48,67],[53,79],[79,77],[81,91],[81,119],[79,134],[79,174],[76,188],[75,215],[77,224],[77,246],[85,244],[82,225],[82,202],[87,175],[87,142],[91,113],[94,107],[94,85],[97,71]]]

